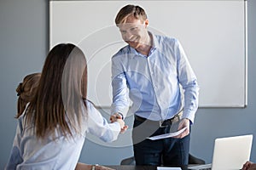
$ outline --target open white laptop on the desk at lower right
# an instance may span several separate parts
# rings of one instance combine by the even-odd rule
[[[237,170],[249,161],[253,135],[215,139],[212,164],[191,166],[191,170]]]

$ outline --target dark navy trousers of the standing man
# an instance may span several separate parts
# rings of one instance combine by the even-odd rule
[[[132,142],[137,165],[185,166],[189,163],[190,134],[183,139],[147,139],[164,133],[170,133],[168,124],[160,127],[159,122],[134,120]]]

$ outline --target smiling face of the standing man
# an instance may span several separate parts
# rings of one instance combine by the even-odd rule
[[[133,16],[129,16],[125,23],[119,24],[119,31],[123,40],[132,48],[138,48],[142,44],[145,44],[144,40],[148,34],[147,24],[141,20],[137,20]]]

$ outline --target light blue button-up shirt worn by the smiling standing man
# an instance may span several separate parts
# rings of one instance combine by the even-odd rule
[[[194,122],[199,86],[189,60],[177,39],[151,35],[148,56],[129,45],[113,55],[111,112],[126,116],[131,99],[130,111],[137,116],[166,120],[183,108],[183,118]]]

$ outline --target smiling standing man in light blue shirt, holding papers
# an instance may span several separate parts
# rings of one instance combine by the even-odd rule
[[[110,119],[125,117],[129,96],[135,116],[132,141],[137,165],[187,165],[199,87],[181,44],[149,32],[147,14],[139,6],[121,8],[115,23],[128,45],[112,58]],[[183,127],[175,138],[147,139]]]

